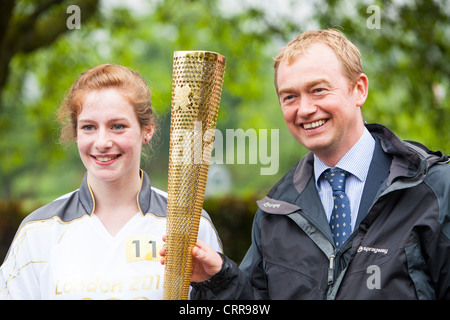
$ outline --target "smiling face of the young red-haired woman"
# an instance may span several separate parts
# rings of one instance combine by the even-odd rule
[[[139,172],[143,131],[120,89],[90,92],[78,115],[77,144],[91,181],[117,181]]]

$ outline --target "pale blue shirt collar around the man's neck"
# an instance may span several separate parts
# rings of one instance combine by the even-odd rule
[[[364,182],[369,172],[370,163],[372,162],[373,152],[375,150],[375,139],[372,137],[367,128],[359,138],[358,142],[342,157],[336,167],[350,172],[361,182]],[[322,173],[331,167],[323,163],[314,155],[314,175],[316,184]]]

